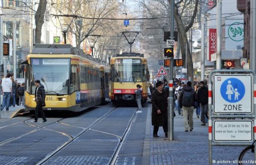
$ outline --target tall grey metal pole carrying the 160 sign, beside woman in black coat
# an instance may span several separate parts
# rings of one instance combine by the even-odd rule
[[[174,0],[170,4],[170,40],[174,39]],[[171,46],[173,48],[173,46]],[[169,66],[169,99],[168,99],[168,140],[173,139],[173,57],[170,57]]]

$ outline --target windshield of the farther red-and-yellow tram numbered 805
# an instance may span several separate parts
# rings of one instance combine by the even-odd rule
[[[142,82],[141,59],[115,59],[115,82]]]

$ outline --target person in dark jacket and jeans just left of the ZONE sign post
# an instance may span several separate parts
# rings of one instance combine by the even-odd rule
[[[201,125],[206,125],[206,118],[208,119],[208,88],[204,85],[204,81],[199,82],[197,97],[201,110]]]

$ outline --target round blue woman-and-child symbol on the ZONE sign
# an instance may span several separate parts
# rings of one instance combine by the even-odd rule
[[[225,101],[237,103],[245,96],[245,85],[237,78],[228,78],[222,83],[220,94]]]

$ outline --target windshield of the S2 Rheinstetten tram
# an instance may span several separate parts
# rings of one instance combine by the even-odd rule
[[[31,58],[32,79],[40,80],[45,93],[68,94],[68,79],[70,75],[69,58]],[[32,93],[36,86],[32,84]]]

